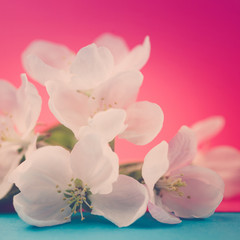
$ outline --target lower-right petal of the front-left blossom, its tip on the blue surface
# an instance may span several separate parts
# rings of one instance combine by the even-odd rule
[[[120,175],[109,194],[92,195],[92,214],[104,216],[119,227],[129,226],[147,208],[146,188],[135,179]]]

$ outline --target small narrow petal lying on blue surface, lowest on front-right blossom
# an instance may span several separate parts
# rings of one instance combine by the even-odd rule
[[[168,213],[162,206],[155,205],[151,201],[148,203],[148,211],[153,218],[162,223],[177,224],[182,222],[178,217]]]

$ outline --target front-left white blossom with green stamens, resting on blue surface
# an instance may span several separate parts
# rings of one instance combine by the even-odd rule
[[[147,208],[146,188],[118,174],[118,157],[99,134],[86,128],[71,153],[42,147],[11,175],[20,189],[14,197],[18,215],[35,226],[69,222],[83,209],[119,227],[128,226]]]

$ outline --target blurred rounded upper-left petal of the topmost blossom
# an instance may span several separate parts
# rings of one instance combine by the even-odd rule
[[[45,84],[49,80],[63,80],[74,58],[66,46],[48,42],[33,41],[23,52],[22,62],[26,72],[36,81]]]

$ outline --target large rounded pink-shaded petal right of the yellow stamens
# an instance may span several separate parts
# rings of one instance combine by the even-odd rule
[[[183,196],[174,191],[161,191],[162,203],[169,211],[182,218],[205,218],[213,214],[224,192],[219,175],[197,166],[186,166],[172,174],[181,176],[186,186],[179,188]]]

